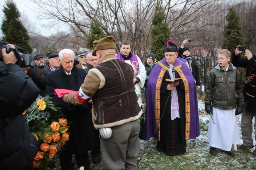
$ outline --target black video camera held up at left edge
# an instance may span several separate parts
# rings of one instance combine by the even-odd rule
[[[8,42],[0,40],[0,49],[5,48],[6,53],[9,54],[11,51],[14,53],[18,59],[17,63],[21,67],[30,66],[31,55],[23,54],[23,49],[18,45],[14,45],[16,49],[9,47]],[[0,50],[0,61],[3,61],[2,51]]]

